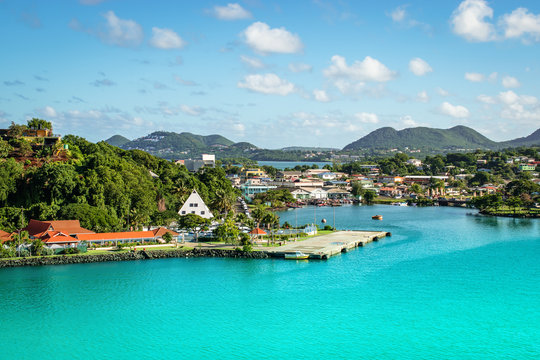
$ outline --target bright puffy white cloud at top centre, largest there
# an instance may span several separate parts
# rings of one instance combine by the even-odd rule
[[[283,27],[271,29],[260,21],[251,24],[242,34],[246,44],[262,54],[294,54],[301,52],[304,47],[298,35]]]

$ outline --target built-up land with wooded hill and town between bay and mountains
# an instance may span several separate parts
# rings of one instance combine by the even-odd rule
[[[300,162],[281,170],[210,153],[159,159],[62,138],[37,118],[12,123],[0,136],[2,257],[176,248],[186,240],[251,251],[276,236],[287,242],[316,234],[320,224],[291,229],[274,213],[306,205],[463,206],[487,215],[540,216],[538,147],[423,159],[392,149],[389,157],[342,154],[323,168]],[[280,232],[282,225],[291,231]]]

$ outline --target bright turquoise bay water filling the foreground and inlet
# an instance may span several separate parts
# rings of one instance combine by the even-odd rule
[[[540,358],[540,221],[335,210],[339,228],[393,236],[328,261],[0,269],[0,358]]]

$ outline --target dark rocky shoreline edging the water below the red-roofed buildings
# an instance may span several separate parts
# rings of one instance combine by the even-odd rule
[[[84,264],[105,261],[151,260],[165,258],[222,257],[236,259],[267,259],[261,251],[245,252],[238,250],[192,249],[169,251],[137,251],[96,255],[59,255],[0,260],[0,268],[18,266]]]

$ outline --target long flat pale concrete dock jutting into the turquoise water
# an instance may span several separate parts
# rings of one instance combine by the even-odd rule
[[[310,259],[328,259],[390,235],[385,231],[336,231],[264,251],[273,257],[285,257],[286,253],[301,251]]]

